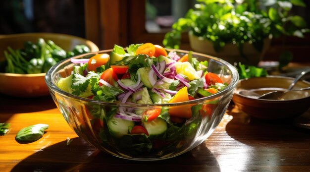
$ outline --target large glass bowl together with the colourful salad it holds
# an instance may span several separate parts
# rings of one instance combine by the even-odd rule
[[[222,59],[151,43],[72,57],[46,75],[78,136],[111,155],[143,161],[175,157],[204,142],[238,79]]]

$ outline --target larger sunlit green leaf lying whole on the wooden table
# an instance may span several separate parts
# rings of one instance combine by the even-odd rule
[[[16,140],[18,141],[36,141],[44,134],[44,130],[48,129],[48,124],[35,124],[22,128],[16,134]]]

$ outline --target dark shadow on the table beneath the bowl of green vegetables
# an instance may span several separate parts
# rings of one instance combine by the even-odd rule
[[[17,98],[0,94],[0,102],[1,113],[30,113],[56,108],[51,96]]]

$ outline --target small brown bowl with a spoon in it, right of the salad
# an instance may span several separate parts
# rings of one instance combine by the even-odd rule
[[[283,76],[267,76],[239,80],[232,98],[238,108],[253,117],[261,119],[281,119],[302,115],[310,108],[310,90],[305,90],[300,99],[265,100],[239,94],[242,90],[256,91],[264,94],[275,90],[286,90],[294,78]],[[310,87],[310,82],[298,81],[293,89]],[[262,91],[261,91],[262,89]],[[257,91],[260,90],[260,91]]]

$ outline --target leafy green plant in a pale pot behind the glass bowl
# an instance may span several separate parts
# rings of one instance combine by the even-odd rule
[[[271,38],[304,37],[305,20],[293,15],[293,5],[303,0],[197,0],[195,8],[178,19],[165,34],[163,45],[178,49],[181,33],[189,31],[194,51],[228,62],[257,65]]]

